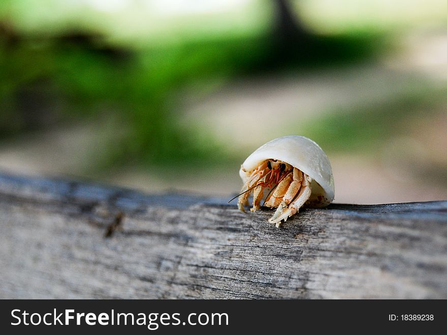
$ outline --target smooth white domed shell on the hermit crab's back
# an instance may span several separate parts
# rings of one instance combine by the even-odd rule
[[[325,207],[334,200],[331,163],[323,149],[311,139],[290,135],[276,138],[260,146],[242,164],[239,170],[242,181],[245,183],[252,170],[268,159],[289,163],[313,179],[308,206]]]

